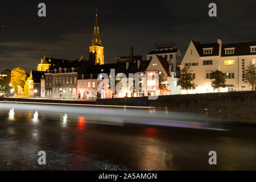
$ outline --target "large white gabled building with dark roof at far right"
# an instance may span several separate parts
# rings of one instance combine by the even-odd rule
[[[221,39],[216,43],[200,44],[191,40],[181,61],[181,69],[189,65],[195,74],[195,89],[188,93],[218,92],[211,86],[210,74],[219,70],[226,74],[226,88],[220,92],[251,90],[251,86],[243,82],[245,69],[249,64],[256,63],[256,42],[222,44]],[[186,90],[181,90],[186,94]]]

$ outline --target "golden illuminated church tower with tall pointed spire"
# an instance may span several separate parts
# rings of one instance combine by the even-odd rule
[[[92,39],[92,45],[90,46],[90,54],[93,54],[93,58],[95,59],[95,64],[104,64],[104,47],[101,44],[100,39],[100,30],[98,27],[98,9],[96,9],[96,22],[94,26],[94,33]]]

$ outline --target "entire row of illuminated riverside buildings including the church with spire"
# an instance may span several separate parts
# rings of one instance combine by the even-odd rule
[[[44,56],[38,64],[37,71],[31,71],[26,81],[29,95],[53,99],[95,100],[185,94],[187,90],[181,90],[180,86],[177,86],[180,70],[185,65],[192,69],[197,85],[188,90],[188,93],[217,92],[210,86],[210,74],[216,70],[226,75],[226,88],[221,88],[221,92],[251,90],[250,85],[244,82],[244,73],[248,65],[256,65],[256,41],[222,44],[222,40],[217,39],[215,43],[200,44],[191,40],[183,59],[180,50],[174,48],[172,44],[155,47],[154,51],[147,54],[146,60],[140,55],[134,55],[133,47],[130,47],[129,56],[116,56],[115,63],[105,64],[104,47],[100,39],[96,14],[89,59],[85,60],[81,56],[80,59],[64,60]],[[99,77],[100,74],[105,73],[111,78],[113,70],[114,76],[117,77],[125,75],[128,78],[129,74],[138,73],[146,76],[146,80],[139,81],[140,89],[137,92],[123,85],[118,92],[114,92],[111,84],[109,82],[102,84],[102,79]],[[154,79],[156,73],[164,76],[162,82],[167,84],[167,90],[156,89],[158,87],[158,82]],[[128,80],[133,82],[134,78]]]

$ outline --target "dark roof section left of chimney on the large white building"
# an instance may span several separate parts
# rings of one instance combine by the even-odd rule
[[[218,50],[220,48],[218,43],[200,44],[193,40],[192,40],[192,42],[195,45],[196,50],[201,57],[203,57],[203,56],[218,56]],[[212,51],[212,53],[204,54],[203,48],[213,48],[213,51]]]

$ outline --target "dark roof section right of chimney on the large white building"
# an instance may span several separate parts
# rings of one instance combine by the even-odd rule
[[[256,55],[256,52],[251,52],[250,46],[256,46],[256,41],[222,44],[221,56],[243,56],[243,55]],[[225,48],[234,47],[233,54],[225,54]]]

